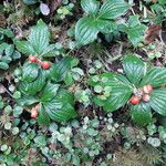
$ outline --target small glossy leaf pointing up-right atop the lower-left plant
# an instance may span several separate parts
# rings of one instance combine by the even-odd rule
[[[43,93],[41,95],[41,102],[51,101],[53,97],[55,97],[56,92],[59,90],[59,84],[48,83],[43,90]]]

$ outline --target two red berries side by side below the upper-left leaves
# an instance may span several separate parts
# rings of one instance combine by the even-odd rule
[[[30,55],[29,61],[31,63],[39,63],[44,70],[48,70],[51,66],[51,64],[48,61],[41,61],[35,55]]]

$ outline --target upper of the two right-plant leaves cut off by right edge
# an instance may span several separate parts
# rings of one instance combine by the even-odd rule
[[[152,68],[146,75],[144,76],[141,85],[151,84],[154,87],[158,87],[160,85],[166,84],[166,69],[160,66]]]

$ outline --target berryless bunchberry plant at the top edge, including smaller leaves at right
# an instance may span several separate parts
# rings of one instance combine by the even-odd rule
[[[106,0],[102,6],[97,0],[82,0],[81,6],[87,17],[81,18],[75,25],[75,40],[79,45],[93,42],[98,32],[124,32],[134,46],[143,41],[146,27],[139,22],[137,14],[131,15],[124,23],[115,21],[131,8],[124,0]]]

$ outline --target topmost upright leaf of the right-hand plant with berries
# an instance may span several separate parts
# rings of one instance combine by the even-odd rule
[[[135,55],[126,55],[123,60],[123,68],[127,79],[135,85],[139,85],[145,75],[145,63]]]

